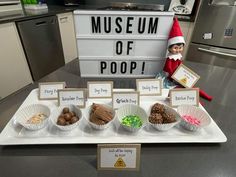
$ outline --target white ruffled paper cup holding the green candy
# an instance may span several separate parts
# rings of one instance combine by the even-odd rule
[[[125,130],[133,132],[133,133],[136,133],[140,129],[142,129],[146,125],[146,122],[147,122],[146,111],[143,108],[141,108],[140,106],[134,105],[134,104],[126,104],[126,105],[121,106],[120,108],[118,108],[116,115],[117,115],[117,119],[118,119],[120,125]],[[131,127],[131,126],[127,126],[127,125],[122,124],[122,119],[125,116],[129,116],[129,115],[138,116],[142,120],[142,126],[139,128],[135,128],[135,127]]]

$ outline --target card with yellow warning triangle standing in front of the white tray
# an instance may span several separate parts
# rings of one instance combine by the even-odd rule
[[[98,170],[139,170],[140,144],[98,145]]]

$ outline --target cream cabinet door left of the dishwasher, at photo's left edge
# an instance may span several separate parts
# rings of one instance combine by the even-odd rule
[[[0,99],[32,83],[15,23],[0,24]]]

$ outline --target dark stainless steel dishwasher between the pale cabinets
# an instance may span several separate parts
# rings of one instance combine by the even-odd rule
[[[35,81],[65,64],[56,16],[20,21],[17,28]]]

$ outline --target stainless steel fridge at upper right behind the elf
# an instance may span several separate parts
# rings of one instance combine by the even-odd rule
[[[236,3],[204,0],[187,52],[187,60],[236,68]]]

